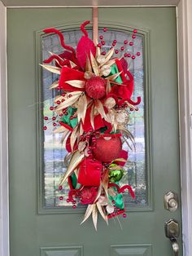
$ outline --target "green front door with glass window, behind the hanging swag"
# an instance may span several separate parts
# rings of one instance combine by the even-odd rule
[[[109,28],[99,34],[106,43],[117,37],[116,55],[137,29],[130,48],[137,58],[128,58],[134,95],[142,94],[142,111],[132,117],[136,151],[129,152],[126,176],[136,200],[125,196],[128,218],[110,219],[109,226],[99,218],[97,232],[90,219],[80,225],[84,209],[73,210],[59,201],[56,185],[63,171],[63,149],[39,127],[44,125],[45,101],[51,99],[46,83],[49,87],[53,77],[47,82],[38,63],[49,49],[59,51],[56,39],[42,37],[39,31],[57,27],[75,44],[84,20],[92,20],[91,8],[7,10],[11,256],[172,256],[164,223],[175,218],[181,226],[181,201],[177,211],[169,212],[164,194],[172,190],[180,198],[176,10],[98,10],[100,27]],[[182,248],[181,236],[179,242]]]

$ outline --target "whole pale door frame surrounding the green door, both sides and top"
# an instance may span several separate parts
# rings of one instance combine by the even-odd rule
[[[109,7],[113,6],[111,2]],[[120,2],[123,5],[123,0]],[[133,6],[134,2],[130,0],[127,7]],[[137,2],[138,4],[140,2],[139,7],[162,7],[161,0],[156,0],[155,3],[154,0]],[[190,72],[192,70],[192,11],[190,11],[192,2],[191,0],[177,2],[167,0],[163,6],[177,8],[182,237],[183,255],[190,256],[192,255],[190,246],[192,242],[192,73]],[[2,256],[10,256],[7,120],[7,7],[0,0],[0,254]]]

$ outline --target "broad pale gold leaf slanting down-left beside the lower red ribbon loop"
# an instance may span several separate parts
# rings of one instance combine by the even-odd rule
[[[81,163],[84,157],[84,153],[79,152],[78,150],[72,154],[72,158],[69,162],[68,169],[66,170],[66,173],[63,175],[60,185],[62,185],[66,181],[66,179],[68,179],[68,176],[72,174],[72,172]]]

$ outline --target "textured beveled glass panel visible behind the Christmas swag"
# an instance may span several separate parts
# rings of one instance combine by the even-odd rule
[[[80,30],[67,30],[63,32],[65,43],[76,48],[76,43],[82,36]],[[136,38],[132,38],[133,30],[130,31],[118,31],[116,29],[107,29],[107,32],[103,32],[103,29],[99,30],[99,36],[103,36],[103,39],[99,39],[99,42],[103,42],[102,51],[107,52],[112,43],[116,42],[116,53],[114,57],[123,57],[129,64],[129,71],[133,73],[134,77],[134,92],[132,99],[137,100],[137,96],[142,97],[142,102],[138,106],[137,111],[130,111],[129,130],[135,138],[135,145],[130,143],[131,148],[124,143],[124,148],[129,150],[129,161],[125,165],[126,174],[121,180],[121,185],[129,183],[133,187],[136,193],[136,198],[133,200],[128,194],[124,194],[124,201],[130,207],[147,205],[147,188],[149,182],[146,180],[146,121],[145,121],[145,86],[144,86],[144,68],[143,68],[143,46],[144,36],[142,33],[137,33]],[[89,38],[92,37],[92,31],[89,30]],[[128,42],[128,43],[126,43]],[[133,42],[133,46],[130,45]],[[102,43],[102,42],[101,42]],[[60,54],[63,52],[63,48],[59,45],[59,38],[57,35],[46,35],[41,38],[42,48],[42,60],[47,59],[53,52]],[[133,60],[134,59],[134,60]],[[41,60],[41,61],[42,61]],[[42,71],[41,77],[41,101],[42,104],[42,126],[47,126],[47,130],[44,130],[43,144],[42,146],[42,171],[43,179],[41,186],[43,187],[43,201],[44,208],[58,208],[63,206],[69,206],[66,202],[68,198],[68,186],[63,188],[60,192],[58,189],[59,180],[66,170],[63,158],[67,151],[60,143],[61,136],[54,134],[55,130],[54,122],[52,118],[55,117],[54,112],[50,111],[50,106],[53,105],[53,99],[57,94],[55,90],[49,90],[50,85],[58,79],[58,75],[50,73],[45,69]],[[48,121],[45,120],[48,117]],[[53,118],[54,119],[54,118]],[[59,200],[59,196],[63,196],[63,201]]]

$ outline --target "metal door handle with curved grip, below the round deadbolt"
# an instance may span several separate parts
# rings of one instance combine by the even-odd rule
[[[164,224],[164,231],[165,236],[167,236],[172,243],[174,256],[179,256],[179,245],[176,238],[179,236],[179,223],[175,219],[169,219]]]

